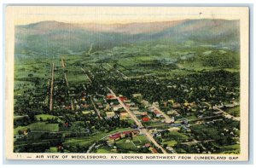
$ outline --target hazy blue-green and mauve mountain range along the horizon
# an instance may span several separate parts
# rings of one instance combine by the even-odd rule
[[[58,55],[90,49],[110,49],[131,43],[193,41],[238,50],[239,20],[173,20],[163,22],[96,24],[42,21],[15,26],[15,55],[37,52]]]

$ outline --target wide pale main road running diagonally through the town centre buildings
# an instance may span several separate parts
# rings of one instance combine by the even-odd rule
[[[133,113],[131,113],[131,111],[125,106],[125,104],[123,103],[123,101],[121,101],[119,99],[118,96],[115,95],[115,93],[113,93],[113,90],[109,89],[108,90],[111,92],[111,94],[113,94],[113,97],[116,98],[120,105],[122,107],[124,107],[125,111],[127,113],[129,113],[129,115],[131,116],[131,119],[134,120],[134,122],[136,123],[136,125],[138,126],[138,130],[140,130],[145,136],[147,136],[148,140],[152,143],[154,143],[154,146],[157,147],[157,148],[160,148],[160,150],[162,151],[163,154],[167,154],[166,150],[164,148],[162,148],[160,146],[160,144],[158,144],[155,140],[154,140],[154,137],[148,132],[147,129],[144,128],[143,124],[137,119],[136,115],[134,115]]]

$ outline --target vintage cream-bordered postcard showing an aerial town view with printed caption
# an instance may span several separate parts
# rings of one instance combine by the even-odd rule
[[[248,159],[247,7],[5,15],[7,159]]]

